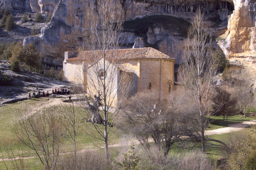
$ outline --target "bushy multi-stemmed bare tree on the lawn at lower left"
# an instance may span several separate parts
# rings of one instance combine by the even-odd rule
[[[14,127],[18,140],[32,149],[45,169],[55,169],[59,163],[64,139],[59,114],[52,107],[44,107],[34,114],[20,113]]]

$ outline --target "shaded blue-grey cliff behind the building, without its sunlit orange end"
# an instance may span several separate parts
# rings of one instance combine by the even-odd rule
[[[60,61],[63,60],[64,52],[76,50],[77,45],[81,44],[84,15],[88,6],[94,3],[95,1],[91,0],[60,0],[58,5],[55,6],[51,21],[41,30],[41,36],[28,37],[24,40],[24,44],[31,41],[40,42],[38,48],[45,56],[45,66],[55,65],[60,68],[59,66],[62,65]],[[41,4],[44,4],[44,7],[46,6],[45,2],[41,2]],[[54,2],[52,2],[52,6],[54,6]],[[130,26],[123,33],[126,35],[124,36],[124,44],[132,44],[135,38],[143,37],[146,46],[158,48],[160,51],[177,58],[177,62],[179,62],[188,22],[199,7],[206,14],[209,26],[216,25],[216,21],[227,26],[228,16],[232,14],[234,9],[232,1],[116,1],[116,9],[125,14],[127,21],[135,19],[134,22],[136,22],[139,18],[144,19],[146,16],[153,15],[176,18],[176,20],[168,20],[169,23],[166,24],[148,24],[151,20],[151,18],[148,18],[145,25],[141,26],[145,27],[145,30],[142,29],[142,31],[136,31],[136,26],[133,26],[131,22],[133,28]],[[46,12],[42,8],[41,11]],[[175,30],[174,26],[177,23],[172,23],[172,21],[181,22],[183,25],[178,26],[178,29]],[[174,28],[171,29],[172,26],[168,26],[168,24],[173,25]]]

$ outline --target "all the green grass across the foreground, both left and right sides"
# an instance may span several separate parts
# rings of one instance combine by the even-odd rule
[[[12,149],[18,150],[20,147],[22,147],[23,150],[26,150],[29,152],[30,150],[22,145],[21,143],[17,143],[17,139],[14,137],[12,133],[12,127],[13,127],[13,122],[16,118],[16,114],[18,114],[18,111],[23,111],[25,108],[21,106],[28,105],[30,107],[37,107],[40,104],[43,104],[45,101],[47,101],[48,98],[37,98],[37,99],[32,99],[32,100],[25,100],[22,101],[22,103],[13,103],[9,104],[7,106],[0,107],[0,146],[4,145],[4,143],[11,143],[12,144]],[[217,128],[222,128],[222,127],[228,127],[229,124],[234,124],[234,123],[240,123],[246,120],[255,120],[255,117],[247,117],[244,119],[243,117],[240,117],[239,115],[228,117],[228,121],[223,122],[223,117],[222,116],[211,116],[210,117],[212,122],[206,130],[211,130],[211,129],[217,129]],[[101,125],[102,126],[102,125]],[[91,123],[84,122],[83,130],[86,130],[88,128],[93,129],[93,125]],[[103,126],[102,126],[103,128]],[[243,132],[246,133],[245,129]],[[234,132],[231,132],[234,133]],[[210,136],[213,139],[218,139],[223,142],[228,139],[231,133],[223,133],[220,135],[212,135]],[[236,132],[238,133],[238,132]],[[110,133],[110,138],[109,141],[111,141],[110,144],[115,144],[119,142],[119,138],[121,132],[116,130],[114,133]],[[93,143],[94,139],[87,134],[85,134],[82,139],[79,141],[77,144],[77,150],[82,150],[82,149],[92,149],[92,148],[97,148],[95,147]],[[212,142],[213,144],[217,144],[216,142]],[[103,146],[104,142],[100,141],[100,144]],[[197,145],[194,145],[193,147],[190,147],[189,149],[199,149],[200,150],[201,145],[200,143]],[[69,141],[65,141],[63,143],[61,152],[72,152],[73,151],[73,144],[70,143]],[[101,150],[100,150],[101,151]],[[172,153],[180,153],[183,152],[184,149],[182,148],[174,148],[171,152]],[[102,150],[104,152],[104,150]],[[223,152],[223,148],[220,146],[213,146],[213,145],[206,145],[206,152],[207,156],[211,159],[212,162],[215,162],[216,160],[225,157],[225,153]],[[7,158],[7,153],[3,152],[5,158]],[[26,156],[34,156],[32,153],[26,153]],[[31,166],[31,169],[41,169],[42,165],[38,161],[38,158],[30,158],[30,159],[25,159],[26,161],[26,166]],[[10,162],[7,161],[8,166],[11,166]],[[5,169],[5,165],[3,162],[0,162],[0,169]],[[12,169],[12,168],[11,168]]]

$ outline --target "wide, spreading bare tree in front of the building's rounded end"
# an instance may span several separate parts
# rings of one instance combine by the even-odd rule
[[[157,92],[140,92],[131,97],[122,109],[120,129],[135,135],[140,143],[149,148],[153,139],[167,156],[177,142],[186,141],[197,131],[195,115],[191,114],[194,105],[186,92],[177,90],[165,97]],[[194,120],[194,121],[193,121]]]

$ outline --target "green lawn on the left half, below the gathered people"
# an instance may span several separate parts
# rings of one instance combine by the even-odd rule
[[[0,107],[0,147],[4,147],[7,143],[10,144],[12,150],[23,149],[27,151],[26,156],[33,156],[33,153],[30,153],[31,150],[28,149],[22,143],[17,142],[18,140],[15,138],[15,135],[12,132],[12,128],[14,127],[14,120],[18,113],[25,111],[25,107],[37,107],[38,105],[46,102],[48,98],[37,98],[31,100],[25,100],[21,103],[13,103],[7,106]],[[57,107],[57,106],[56,106]],[[100,128],[104,128],[103,125],[99,125]],[[81,132],[83,133],[86,129],[94,129],[92,123],[84,122],[84,125],[81,128]],[[118,133],[118,131],[115,131]],[[82,135],[79,135],[77,139],[80,139]],[[109,143],[114,144],[118,141],[120,135],[116,135],[116,133],[109,134]],[[85,135],[81,138],[81,140],[77,143],[77,150],[82,149],[93,149],[98,148],[94,145],[95,139],[88,135],[86,132]],[[98,146],[104,146],[104,141],[98,141]],[[72,152],[73,151],[73,143],[66,140],[62,147],[62,153]],[[0,153],[1,154],[1,153]],[[3,151],[3,155],[7,158],[7,153]],[[1,168],[0,168],[1,169]]]

